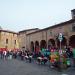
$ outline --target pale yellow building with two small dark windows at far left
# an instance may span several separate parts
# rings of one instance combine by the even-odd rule
[[[0,29],[0,50],[18,50],[18,33]]]

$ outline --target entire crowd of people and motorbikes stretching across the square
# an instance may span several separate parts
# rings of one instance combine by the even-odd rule
[[[47,54],[48,53],[48,54]],[[65,47],[64,49],[50,48],[40,50],[38,53],[30,51],[0,51],[1,59],[12,59],[19,57],[22,61],[32,62],[36,60],[39,64],[50,62],[51,67],[70,67],[75,66],[75,48]]]

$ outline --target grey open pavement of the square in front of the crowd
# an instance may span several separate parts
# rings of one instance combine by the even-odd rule
[[[0,75],[75,75],[75,69],[58,72],[48,65],[27,63],[16,59],[0,60]]]

